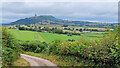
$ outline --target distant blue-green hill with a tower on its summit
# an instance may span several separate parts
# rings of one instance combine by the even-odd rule
[[[15,22],[11,22],[10,25],[15,24],[40,24],[40,25],[85,25],[92,22],[87,21],[69,21],[57,19],[53,16],[34,16],[30,18],[20,19]]]

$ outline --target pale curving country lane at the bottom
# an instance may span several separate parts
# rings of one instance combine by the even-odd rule
[[[30,66],[52,66],[55,68],[57,67],[56,64],[50,62],[49,60],[42,59],[40,57],[29,56],[26,54],[20,54],[20,55],[21,55],[21,58],[25,59],[30,63]]]

